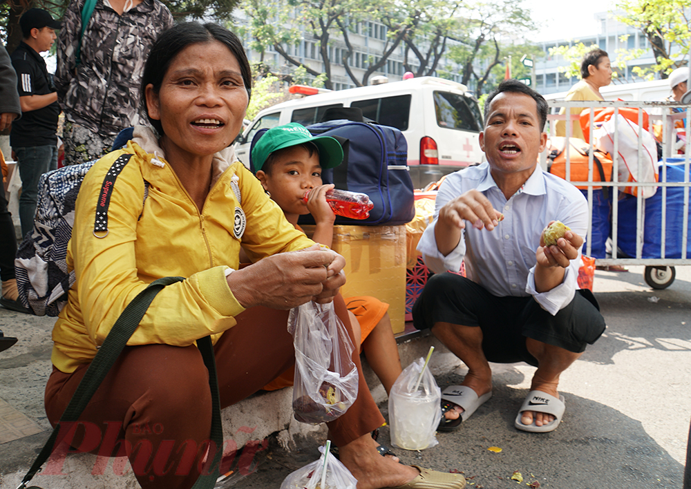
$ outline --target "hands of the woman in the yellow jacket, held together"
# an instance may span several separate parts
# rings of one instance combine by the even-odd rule
[[[331,302],[345,283],[344,265],[345,258],[335,251],[313,245],[263,258],[234,271],[227,280],[243,307],[292,309],[310,300]]]

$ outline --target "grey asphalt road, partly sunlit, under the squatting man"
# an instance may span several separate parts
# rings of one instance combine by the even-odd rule
[[[397,454],[406,463],[462,470],[478,489],[533,481],[558,489],[681,488],[691,419],[691,267],[676,272],[662,291],[645,285],[643,267],[596,272],[607,332],[562,375],[567,411],[555,432],[513,428],[534,369],[496,365],[493,398],[460,430],[437,435],[434,448]],[[437,382],[444,387],[463,373],[439,375]],[[381,432],[388,442],[388,428]],[[270,459],[257,454],[257,472],[234,487],[278,488],[290,470],[318,457],[312,440],[291,454],[276,446],[267,452]],[[519,486],[510,480],[514,471],[524,478]]]

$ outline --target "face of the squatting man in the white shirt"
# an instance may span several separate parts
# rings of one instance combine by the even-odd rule
[[[503,92],[494,97],[480,133],[480,147],[494,172],[533,172],[545,149],[547,133],[540,131],[538,104],[530,95]]]

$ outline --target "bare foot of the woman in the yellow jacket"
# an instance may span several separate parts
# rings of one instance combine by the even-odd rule
[[[370,434],[339,447],[341,462],[357,479],[357,489],[380,489],[402,486],[419,474],[416,468],[404,466],[391,457],[381,457]]]

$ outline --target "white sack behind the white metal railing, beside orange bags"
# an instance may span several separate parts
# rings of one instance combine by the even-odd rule
[[[600,128],[594,132],[596,148],[612,155],[614,160],[614,131],[619,132],[618,137],[618,181],[619,182],[638,182],[638,171],[641,171],[641,182],[657,182],[657,145],[652,134],[648,131],[641,131],[637,124],[621,114],[603,122]],[[638,159],[638,133],[641,133],[643,144],[642,158]],[[623,189],[624,193],[638,195],[641,192],[644,199],[652,197],[657,191],[657,186],[627,186]]]

